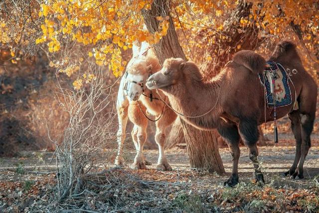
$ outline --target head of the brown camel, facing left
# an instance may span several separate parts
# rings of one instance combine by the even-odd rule
[[[167,58],[161,70],[151,75],[146,82],[149,89],[164,89],[177,83],[183,75],[186,62],[181,58]]]

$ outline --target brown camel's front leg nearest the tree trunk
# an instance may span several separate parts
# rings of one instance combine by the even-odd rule
[[[238,184],[238,161],[240,157],[239,141],[240,136],[235,124],[218,128],[221,137],[226,141],[233,161],[233,168],[230,178],[224,183],[226,187],[233,187]]]

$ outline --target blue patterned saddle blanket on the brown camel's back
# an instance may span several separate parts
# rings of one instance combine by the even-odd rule
[[[291,90],[288,84],[288,73],[280,63],[267,61],[259,80],[265,88],[267,107],[287,106],[292,103]]]

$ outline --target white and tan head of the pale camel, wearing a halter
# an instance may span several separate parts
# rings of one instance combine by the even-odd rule
[[[143,59],[132,58],[131,61],[124,74],[123,90],[130,100],[136,101],[144,92],[144,85],[152,71],[152,65],[147,65],[147,62]]]

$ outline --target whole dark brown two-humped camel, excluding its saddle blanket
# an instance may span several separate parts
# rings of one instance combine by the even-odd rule
[[[304,178],[303,166],[311,147],[310,135],[315,120],[317,85],[305,71],[292,42],[280,42],[270,60],[281,63],[286,69],[298,70],[297,74],[290,76],[294,85],[289,81],[292,100],[296,100],[295,94],[297,95],[298,110],[294,110],[293,101],[291,105],[278,107],[276,111],[277,118],[288,114],[297,145],[295,161],[285,175],[301,179]],[[238,183],[240,138],[248,147],[256,180],[264,182],[256,146],[258,125],[265,121],[265,114],[267,121],[274,119],[272,108],[266,108],[265,113],[264,88],[257,74],[263,72],[264,67],[265,60],[262,56],[253,51],[242,50],[233,56],[219,75],[210,82],[203,82],[200,71],[193,62],[169,58],[164,61],[160,72],[150,76],[146,84],[149,89],[158,88],[163,91],[171,107],[183,114],[180,118],[189,124],[203,130],[217,128],[227,141],[233,159],[232,173],[224,183],[225,186]],[[209,113],[205,114],[207,112]]]

